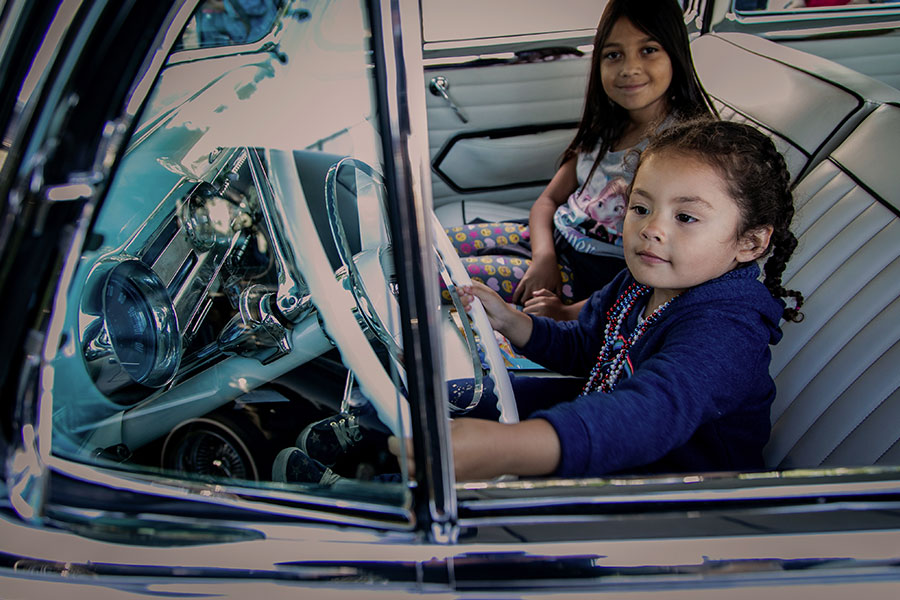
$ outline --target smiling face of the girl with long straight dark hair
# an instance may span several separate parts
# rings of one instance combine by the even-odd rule
[[[659,42],[623,17],[613,25],[600,52],[603,89],[632,120],[647,122],[667,112],[672,61]]]

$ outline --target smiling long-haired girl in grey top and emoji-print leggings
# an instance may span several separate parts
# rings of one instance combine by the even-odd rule
[[[611,0],[594,39],[581,123],[528,228],[448,230],[469,274],[525,312],[574,319],[583,303],[563,304],[558,295],[583,300],[623,267],[626,154],[676,120],[711,114],[678,3]]]

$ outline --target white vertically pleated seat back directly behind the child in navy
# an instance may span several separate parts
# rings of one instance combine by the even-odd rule
[[[795,189],[784,274],[806,297],[773,348],[771,468],[900,464],[900,105],[871,112]]]

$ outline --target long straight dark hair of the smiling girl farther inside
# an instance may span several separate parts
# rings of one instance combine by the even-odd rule
[[[659,42],[669,55],[672,62],[672,83],[667,94],[670,113],[678,119],[716,116],[712,101],[694,70],[684,14],[677,0],[610,0],[603,9],[600,24],[597,25],[597,35],[594,37],[584,112],[575,138],[563,153],[562,162],[575,157],[579,152],[591,152],[599,142],[600,151],[596,160],[599,164],[622,137],[628,125],[628,112],[610,101],[600,80],[602,48],[609,39],[613,26],[622,18],[628,19],[635,27]]]

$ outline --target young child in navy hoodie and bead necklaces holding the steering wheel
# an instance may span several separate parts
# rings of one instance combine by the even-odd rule
[[[465,290],[525,355],[586,383],[563,402],[519,398],[517,385],[515,425],[454,420],[457,477],[762,468],[769,345],[782,318],[802,318],[802,296],[781,284],[797,244],[789,181],[750,126],[673,127],[641,153],[629,189],[628,268],[577,321],[523,314],[483,284]]]

